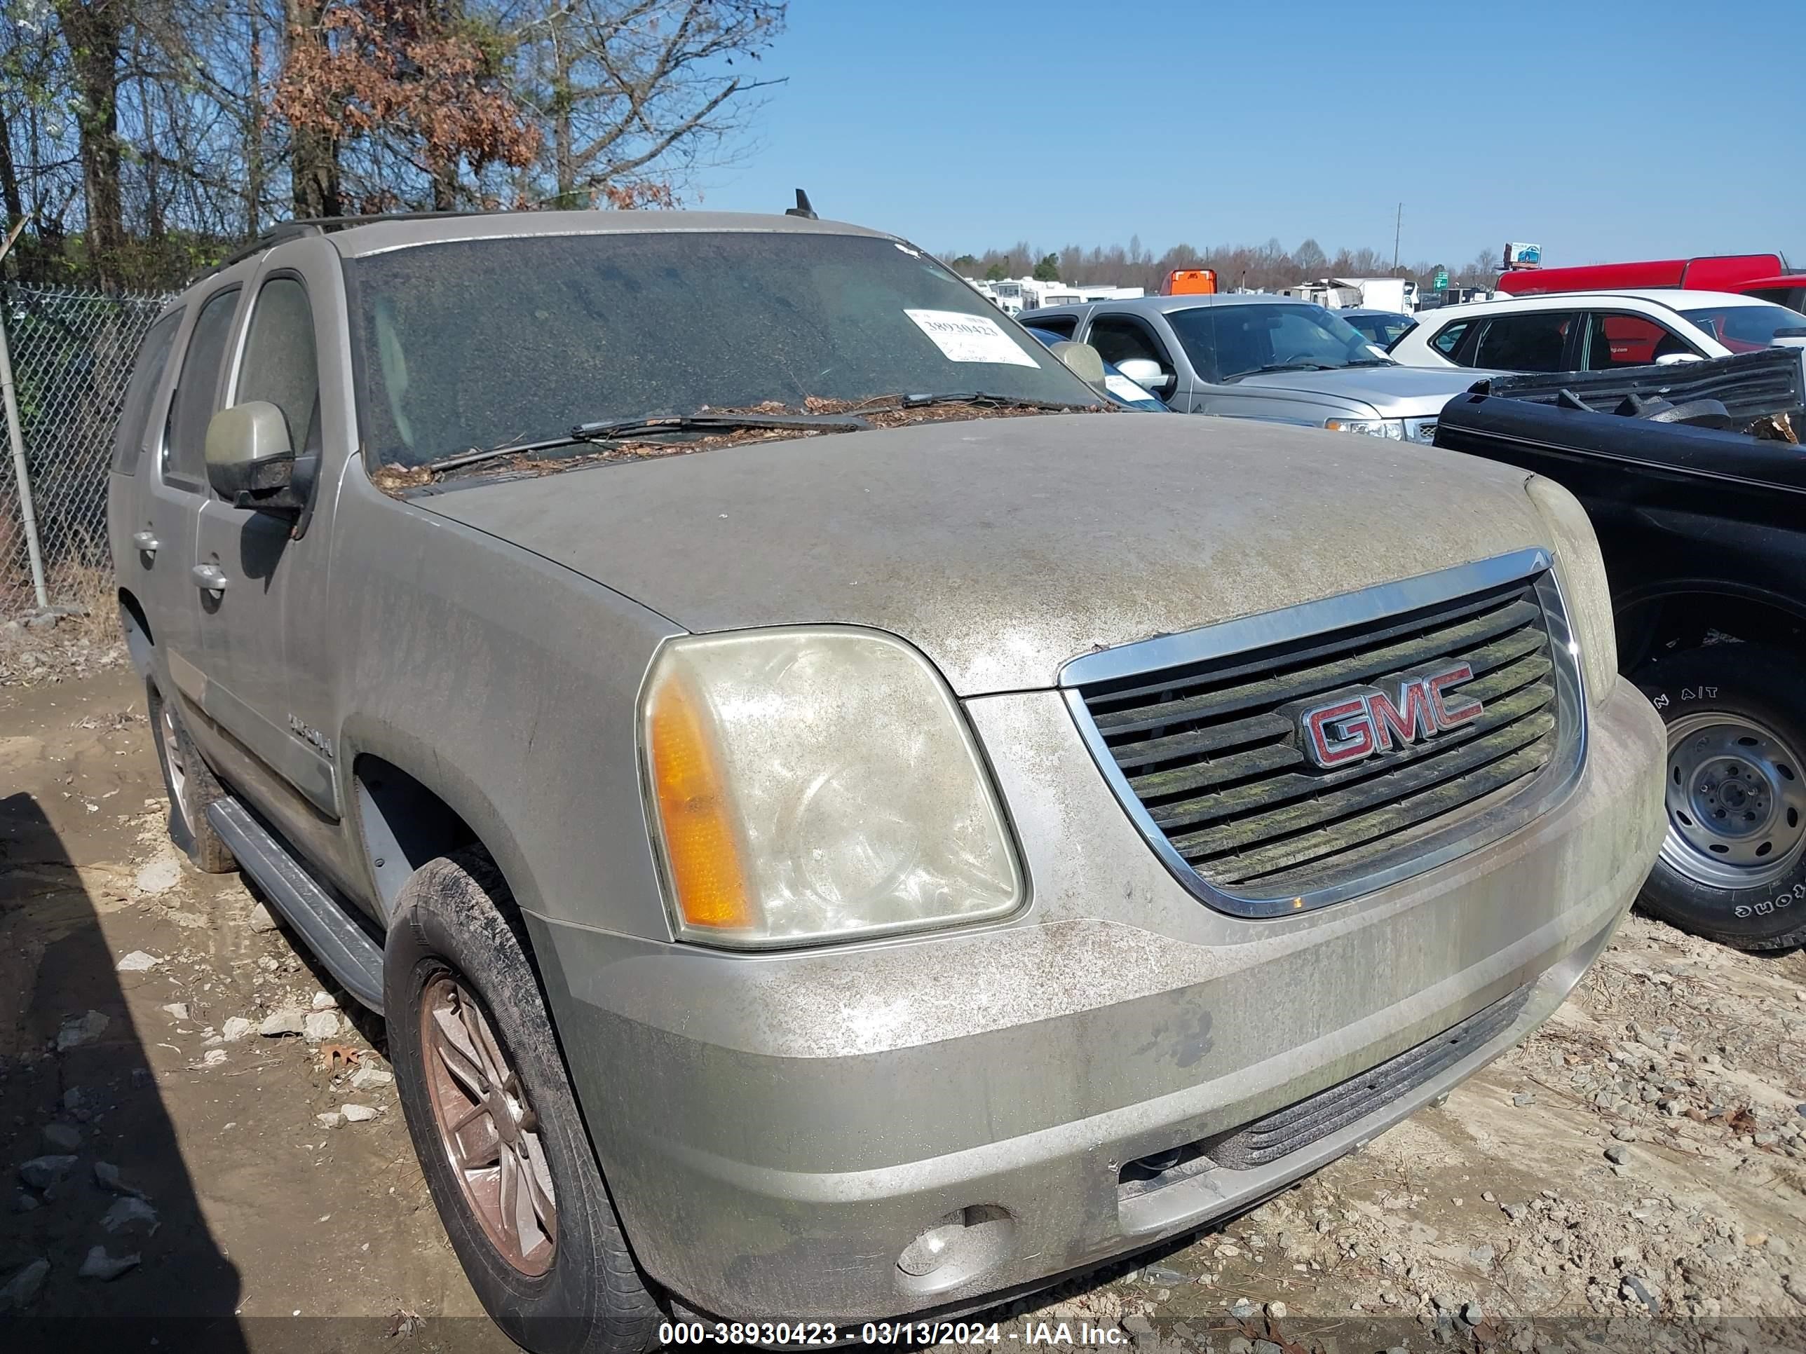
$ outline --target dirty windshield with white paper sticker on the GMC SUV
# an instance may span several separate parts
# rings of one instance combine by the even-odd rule
[[[959,278],[885,238],[461,240],[359,258],[354,278],[363,433],[397,468],[699,410],[1098,401]]]

